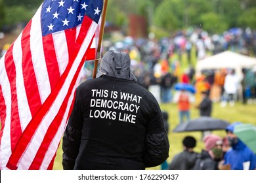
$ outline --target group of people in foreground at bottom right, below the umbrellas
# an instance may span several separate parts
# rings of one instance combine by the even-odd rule
[[[196,152],[197,141],[192,136],[182,139],[182,152],[175,154],[165,169],[169,170],[255,170],[256,154],[236,129],[244,125],[234,122],[226,127],[226,136],[209,134],[203,138],[203,149]],[[246,124],[245,124],[246,125]],[[247,143],[247,142],[246,142]]]

